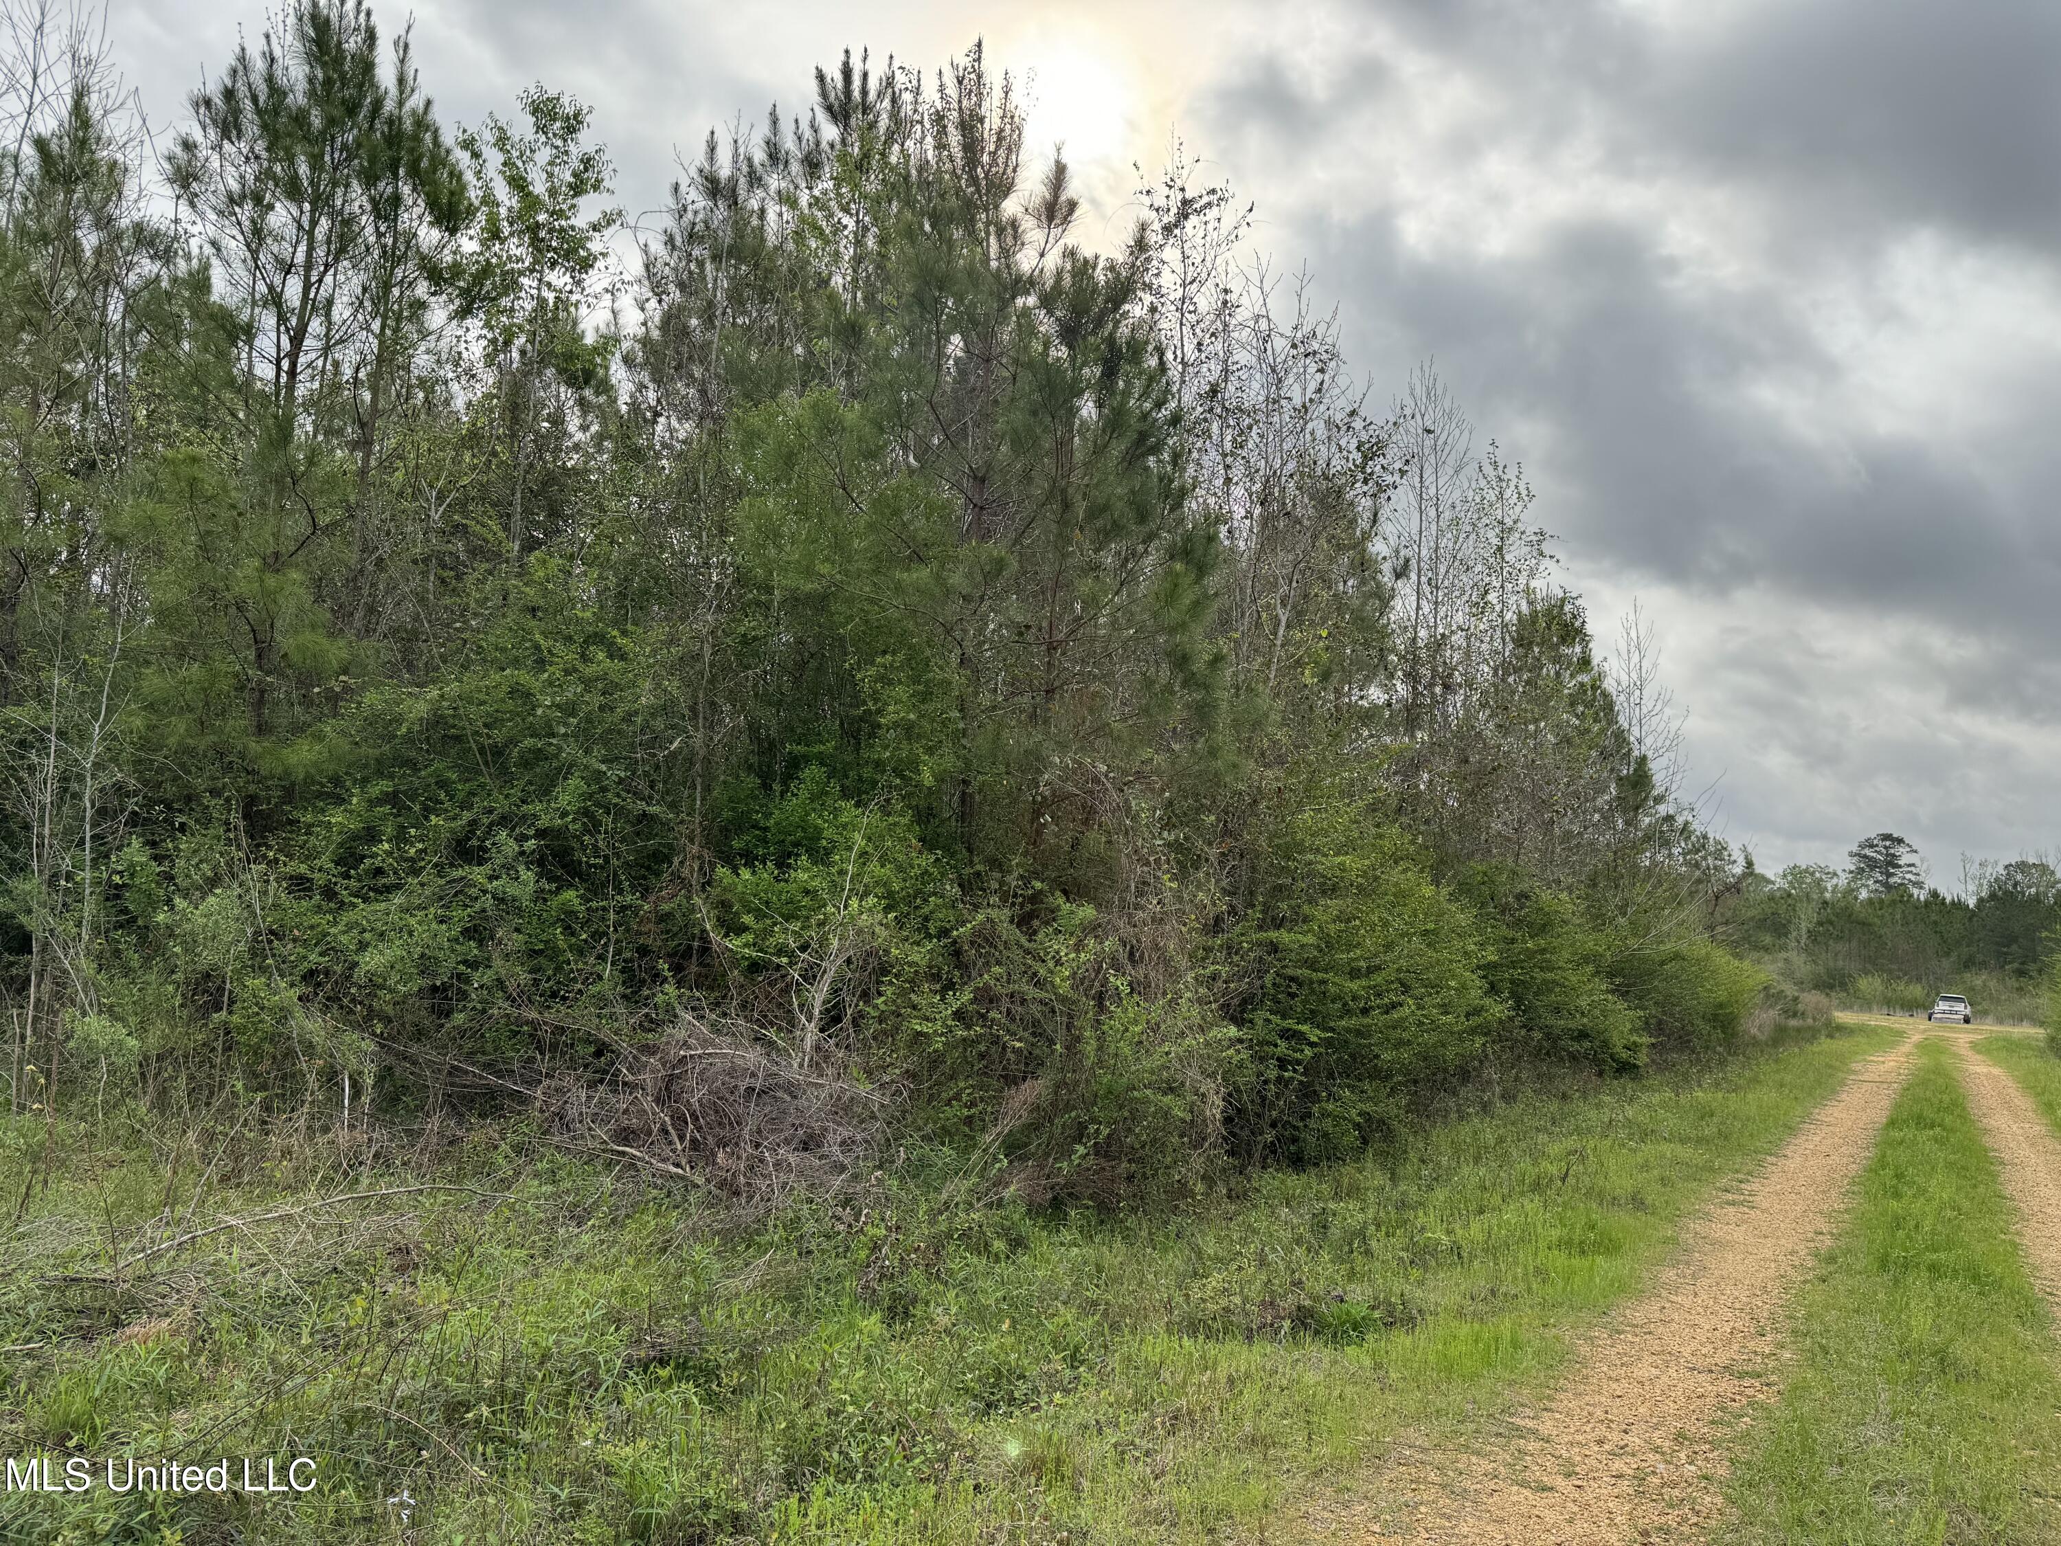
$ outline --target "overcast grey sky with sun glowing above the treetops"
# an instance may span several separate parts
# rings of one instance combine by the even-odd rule
[[[394,29],[402,6],[381,6]],[[157,124],[262,0],[113,0]],[[1762,864],[2061,843],[2053,0],[420,0],[447,117],[596,105],[633,214],[843,45],[1028,74],[1096,229],[1173,136],[1381,398],[1434,357]]]

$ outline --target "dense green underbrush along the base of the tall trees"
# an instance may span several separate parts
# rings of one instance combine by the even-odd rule
[[[754,1210],[847,1196],[913,1138],[971,1154],[981,1196],[1129,1206],[1350,1158],[1529,1064],[1626,1074],[1810,1014],[1671,913],[1441,866],[1385,800],[1319,789],[1249,827],[1243,897],[1169,868],[1099,907],[983,884],[812,773],[709,876],[705,969],[647,961],[657,985],[581,985],[540,938],[573,903],[534,874],[507,895],[497,862],[416,895],[307,829],[258,862],[206,831],[163,858],[132,839],[95,1012],[16,1047],[14,1109],[515,1111]]]

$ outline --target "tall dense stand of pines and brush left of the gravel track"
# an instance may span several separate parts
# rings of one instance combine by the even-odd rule
[[[977,49],[635,233],[357,4],[208,80],[153,153],[80,37],[6,76],[12,1113],[1121,1198],[1756,1006],[1645,637],[1224,190],[1084,249]]]

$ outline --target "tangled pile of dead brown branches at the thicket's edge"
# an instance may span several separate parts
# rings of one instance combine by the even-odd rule
[[[600,1158],[703,1181],[748,1208],[847,1189],[878,1150],[886,1097],[748,1027],[682,1018],[600,1084],[538,1093],[552,1136]]]

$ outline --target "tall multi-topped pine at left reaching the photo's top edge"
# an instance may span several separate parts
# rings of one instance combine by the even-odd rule
[[[324,771],[373,474],[472,210],[406,39],[385,74],[359,0],[297,0],[192,109],[167,171],[210,264],[144,303],[163,412],[120,532],[153,620],[140,717],[190,789],[274,798]]]

